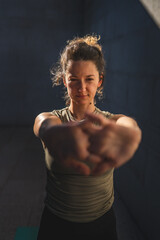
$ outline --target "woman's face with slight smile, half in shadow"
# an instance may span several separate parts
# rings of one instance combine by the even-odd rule
[[[83,60],[69,60],[63,80],[71,102],[76,104],[94,103],[97,88],[102,83],[94,62]]]

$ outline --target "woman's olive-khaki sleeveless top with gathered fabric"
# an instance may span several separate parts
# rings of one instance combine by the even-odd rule
[[[95,114],[111,118],[113,114],[95,108]],[[54,110],[62,123],[75,121],[68,107]],[[84,176],[56,165],[44,147],[47,166],[45,205],[60,218],[72,222],[90,222],[104,215],[114,201],[113,171],[100,176]]]

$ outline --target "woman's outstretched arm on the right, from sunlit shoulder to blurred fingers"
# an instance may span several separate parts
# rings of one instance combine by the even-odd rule
[[[112,167],[120,167],[132,158],[141,141],[141,130],[137,122],[125,115],[106,119],[102,115],[88,114],[100,129],[92,132],[89,151],[101,157],[92,173],[102,174]]]

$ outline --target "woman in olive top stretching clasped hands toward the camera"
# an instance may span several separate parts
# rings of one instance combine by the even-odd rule
[[[35,119],[47,166],[38,240],[117,239],[113,172],[134,155],[141,130],[134,119],[95,106],[105,73],[98,40],[87,35],[67,43],[51,69],[53,83],[66,88],[67,107]]]

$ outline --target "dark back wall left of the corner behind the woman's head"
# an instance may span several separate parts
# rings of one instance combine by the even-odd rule
[[[0,124],[33,124],[62,106],[49,68],[81,34],[83,0],[0,0]]]

